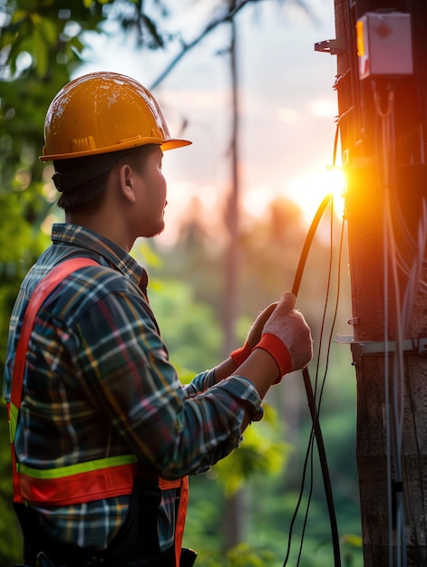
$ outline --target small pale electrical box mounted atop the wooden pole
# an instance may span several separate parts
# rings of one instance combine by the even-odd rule
[[[356,23],[359,77],[411,75],[411,15],[367,12]]]

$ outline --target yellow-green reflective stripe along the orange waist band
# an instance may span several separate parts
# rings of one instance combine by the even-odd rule
[[[131,465],[132,463],[136,463],[137,460],[137,457],[134,455],[106,456],[105,458],[98,458],[94,461],[87,461],[86,463],[76,463],[75,465],[58,466],[57,468],[46,468],[44,470],[17,463],[16,470],[18,473],[32,476],[33,478],[62,478],[63,476],[90,473],[110,466]]]

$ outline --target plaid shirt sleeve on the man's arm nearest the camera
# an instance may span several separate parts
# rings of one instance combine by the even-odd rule
[[[77,331],[82,388],[148,472],[175,478],[212,466],[238,447],[245,408],[262,415],[257,390],[242,377],[214,385],[212,371],[201,373],[189,396],[135,293],[107,293]]]

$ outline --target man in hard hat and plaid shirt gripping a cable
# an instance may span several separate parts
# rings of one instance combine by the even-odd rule
[[[44,139],[65,223],[24,279],[5,366],[24,563],[190,565],[194,554],[180,550],[187,476],[238,447],[270,386],[311,360],[310,330],[287,293],[242,348],[182,386],[130,251],[164,228],[163,151],[190,142],[170,138],[140,83],[111,72],[66,85]],[[92,264],[46,291],[71,258]]]

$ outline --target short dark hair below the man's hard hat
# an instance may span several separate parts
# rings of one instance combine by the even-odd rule
[[[99,207],[107,187],[108,176],[120,159],[141,171],[145,164],[142,157],[150,153],[145,150],[154,147],[157,145],[150,144],[83,158],[54,160],[53,182],[61,192],[58,207],[73,213],[80,210],[87,212],[88,209]]]

